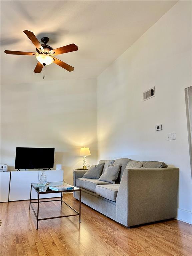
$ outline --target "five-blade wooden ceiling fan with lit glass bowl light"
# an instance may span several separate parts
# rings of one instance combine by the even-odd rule
[[[50,65],[51,63],[55,63],[58,66],[66,69],[67,71],[73,71],[74,67],[70,66],[69,64],[55,58],[55,55],[62,54],[62,53],[67,53],[67,52],[73,52],[77,51],[78,47],[75,44],[69,44],[66,46],[62,46],[56,49],[53,49],[51,46],[47,45],[49,42],[48,37],[43,37],[41,38],[41,42],[43,44],[40,44],[36,36],[33,34],[33,32],[24,30],[23,31],[28,38],[31,40],[31,42],[36,46],[36,51],[35,52],[20,52],[20,51],[7,51],[5,50],[5,53],[7,54],[18,54],[18,55],[33,55],[36,56],[38,63],[34,69],[33,72],[35,73],[41,73],[42,68],[44,66]]]

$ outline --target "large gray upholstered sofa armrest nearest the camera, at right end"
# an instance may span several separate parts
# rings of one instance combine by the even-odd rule
[[[177,215],[178,168],[125,169],[116,199],[116,219],[130,227]]]

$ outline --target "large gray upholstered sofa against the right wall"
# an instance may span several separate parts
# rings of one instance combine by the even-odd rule
[[[179,169],[164,162],[142,162],[144,168],[126,168],[131,159],[101,160],[103,172],[110,164],[122,164],[111,184],[82,178],[86,170],[75,170],[73,185],[81,188],[81,201],[126,227],[175,218]],[[74,192],[79,199],[79,193]]]

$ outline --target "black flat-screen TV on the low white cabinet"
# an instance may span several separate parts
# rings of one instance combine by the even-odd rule
[[[54,148],[16,148],[15,169],[49,169],[54,165]]]

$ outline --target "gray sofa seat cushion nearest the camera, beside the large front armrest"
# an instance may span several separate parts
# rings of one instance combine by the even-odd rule
[[[97,195],[102,196],[111,201],[116,201],[119,184],[98,185],[95,192]]]

